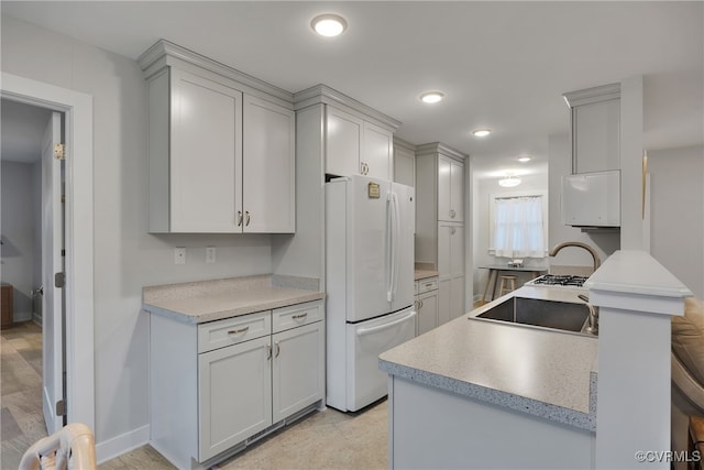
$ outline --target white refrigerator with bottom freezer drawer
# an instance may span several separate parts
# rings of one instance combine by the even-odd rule
[[[358,411],[387,392],[378,354],[416,335],[415,192],[366,176],[326,184],[327,404]]]

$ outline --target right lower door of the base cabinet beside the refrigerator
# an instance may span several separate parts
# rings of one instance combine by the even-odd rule
[[[273,335],[273,423],[324,397],[322,321]]]

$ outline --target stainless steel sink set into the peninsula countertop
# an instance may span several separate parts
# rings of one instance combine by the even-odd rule
[[[590,309],[586,304],[512,297],[470,318],[586,334],[588,315]]]

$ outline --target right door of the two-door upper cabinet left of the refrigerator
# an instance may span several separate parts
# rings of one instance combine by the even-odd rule
[[[244,96],[243,231],[296,229],[296,121],[290,109]]]

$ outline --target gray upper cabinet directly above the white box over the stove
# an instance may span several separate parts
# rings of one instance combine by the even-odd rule
[[[572,173],[620,168],[620,84],[564,94],[570,106]]]

